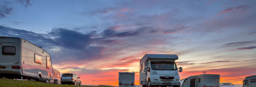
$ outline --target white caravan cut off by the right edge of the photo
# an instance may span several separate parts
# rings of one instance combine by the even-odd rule
[[[245,77],[243,82],[243,87],[256,87],[256,75]]]

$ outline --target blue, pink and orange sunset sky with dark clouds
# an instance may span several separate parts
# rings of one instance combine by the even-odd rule
[[[0,36],[22,37],[83,84],[118,85],[145,54],[177,54],[181,79],[256,75],[256,0],[1,0]]]

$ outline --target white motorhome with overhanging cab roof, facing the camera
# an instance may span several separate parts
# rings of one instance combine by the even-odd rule
[[[140,85],[143,87],[179,87],[182,67],[178,71],[173,54],[146,54],[140,59]]]

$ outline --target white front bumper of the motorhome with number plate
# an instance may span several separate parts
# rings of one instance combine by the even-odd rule
[[[159,86],[180,85],[179,75],[168,75],[169,77],[174,77],[173,79],[160,79],[160,76],[166,76],[166,75],[150,75],[149,77],[150,77],[151,85],[159,85]]]

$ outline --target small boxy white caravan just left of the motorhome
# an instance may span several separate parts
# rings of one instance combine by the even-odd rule
[[[118,74],[119,87],[134,87],[134,72],[119,72]]]

